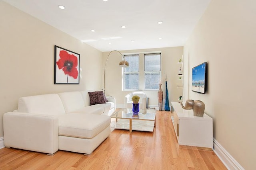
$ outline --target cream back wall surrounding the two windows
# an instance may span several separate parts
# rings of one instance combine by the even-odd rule
[[[162,64],[162,90],[165,97],[165,76],[167,74],[168,92],[169,92],[169,104],[171,101],[178,101],[178,97],[182,95],[182,88],[177,88],[179,65],[177,64],[179,59],[183,55],[183,47],[167,47],[158,49],[140,49],[120,51],[122,54],[133,53],[153,53],[161,52],[161,64]],[[103,66],[106,62],[106,58],[110,52],[103,53]],[[124,105],[124,96],[134,91],[122,91],[122,68],[118,65],[122,56],[118,52],[112,52],[108,58],[106,66],[106,95],[114,96],[116,98],[117,106]],[[144,70],[144,56],[140,55],[140,70]],[[143,81],[143,77],[139,78],[140,83]],[[143,84],[143,82],[142,82]],[[140,91],[143,89],[140,89]],[[144,91],[149,98],[150,106],[157,106],[158,98],[157,91]],[[164,102],[163,102],[164,105]],[[164,109],[164,107],[163,107]]]

